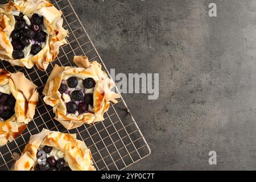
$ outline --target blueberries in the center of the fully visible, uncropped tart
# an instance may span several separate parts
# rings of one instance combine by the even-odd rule
[[[76,88],[78,85],[78,80],[76,77],[70,77],[67,80],[67,84],[61,84],[59,88],[59,92],[61,94],[68,93],[71,96],[71,101],[67,103],[67,111],[68,113],[75,113],[76,110],[81,113],[85,113],[88,111],[88,105],[93,105],[93,94],[84,94],[81,90],[73,90],[72,92],[68,92],[69,88]],[[93,78],[86,78],[82,81],[82,85],[86,89],[91,89],[95,86],[95,81]],[[77,105],[75,101],[79,101]]]

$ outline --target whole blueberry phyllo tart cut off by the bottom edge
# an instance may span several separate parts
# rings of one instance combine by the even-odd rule
[[[15,156],[15,155],[14,155]],[[95,171],[92,155],[76,134],[44,129],[32,135],[22,155],[17,158],[15,171]]]

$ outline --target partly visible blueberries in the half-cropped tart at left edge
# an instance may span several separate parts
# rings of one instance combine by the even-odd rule
[[[15,111],[15,97],[13,94],[5,94],[0,92],[0,117],[4,120],[11,118]]]

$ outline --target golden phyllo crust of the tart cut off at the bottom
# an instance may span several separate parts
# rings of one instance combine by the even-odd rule
[[[43,129],[32,135],[22,155],[14,164],[15,171],[30,171],[36,163],[36,153],[40,146],[56,147],[65,152],[64,158],[72,171],[95,171],[92,155],[85,143],[76,139],[76,134],[60,133]]]

